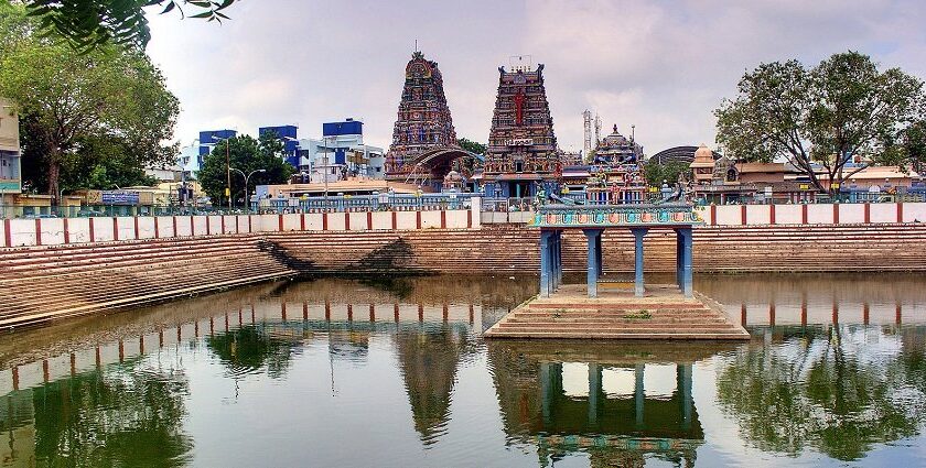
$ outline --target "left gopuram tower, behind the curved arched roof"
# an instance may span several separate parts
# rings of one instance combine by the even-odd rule
[[[414,52],[406,65],[392,144],[386,153],[386,178],[405,182],[416,171],[416,157],[446,148],[459,146],[441,70],[437,62],[424,58],[421,52]]]

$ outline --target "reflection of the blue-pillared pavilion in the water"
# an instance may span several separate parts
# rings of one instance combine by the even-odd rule
[[[509,442],[537,445],[541,466],[570,451],[589,454],[592,466],[643,466],[647,455],[692,466],[704,434],[692,402],[692,368],[732,345],[488,341],[488,359]],[[655,396],[645,389],[647,364],[674,362],[675,390]],[[564,392],[563,363],[585,370]],[[604,388],[605,370],[632,389]],[[584,394],[583,394],[584,393]]]

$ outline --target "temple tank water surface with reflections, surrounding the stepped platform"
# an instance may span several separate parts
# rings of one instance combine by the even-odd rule
[[[0,466],[926,466],[926,276],[700,276],[749,342],[489,341],[534,277],[263,284],[0,335]]]

